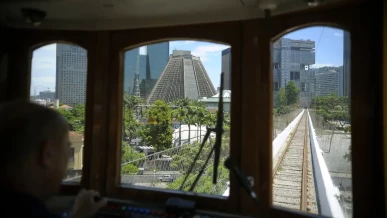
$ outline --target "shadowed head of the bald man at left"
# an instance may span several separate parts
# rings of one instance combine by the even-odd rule
[[[53,109],[27,101],[0,105],[2,171],[9,176],[10,169],[23,168],[60,183],[67,167],[68,131],[65,118]]]

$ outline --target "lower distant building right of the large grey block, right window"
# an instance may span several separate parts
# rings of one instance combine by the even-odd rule
[[[339,72],[327,70],[316,73],[316,96],[339,95]]]

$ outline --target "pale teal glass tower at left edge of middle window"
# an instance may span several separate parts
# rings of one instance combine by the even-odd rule
[[[135,74],[137,69],[137,58],[140,56],[140,49],[134,48],[125,52],[124,56],[124,92],[133,94]]]

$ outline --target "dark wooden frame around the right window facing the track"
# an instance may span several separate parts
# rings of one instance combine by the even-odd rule
[[[334,6],[314,8],[304,12],[269,17],[246,24],[245,41],[256,41],[256,48],[244,59],[256,61],[257,70],[247,71],[242,83],[246,87],[258,87],[249,92],[248,102],[243,114],[252,116],[252,111],[261,114],[262,120],[254,123],[247,120],[244,125],[255,129],[251,143],[257,145],[258,160],[250,163],[258,166],[254,177],[259,178],[255,191],[262,199],[265,211],[270,217],[314,217],[315,215],[295,210],[288,210],[272,204],[272,41],[279,37],[311,26],[330,26],[347,30],[351,35],[351,116],[352,116],[352,184],[353,184],[353,217],[381,217],[384,211],[384,175],[383,175],[383,134],[382,134],[382,40],[381,29],[373,29],[369,24],[380,25],[382,19],[377,16],[359,16],[365,11],[382,14],[381,2],[369,3],[359,1],[341,3]],[[379,19],[379,20],[378,20]],[[253,30],[255,28],[255,31]],[[250,33],[253,31],[253,33]],[[248,49],[248,48],[247,48]],[[245,52],[245,53],[246,53]],[[369,54],[366,58],[364,54]],[[243,66],[245,63],[242,64]],[[247,64],[248,65],[248,64]],[[372,72],[365,74],[364,72]],[[254,80],[255,79],[255,80]],[[362,85],[359,85],[362,84]],[[370,97],[373,96],[373,97]],[[245,101],[243,101],[246,103]],[[364,127],[367,127],[365,131]],[[250,130],[249,130],[250,131]],[[251,135],[254,132],[246,132]],[[246,136],[247,137],[247,136]],[[267,146],[270,145],[270,146]],[[241,151],[246,154],[245,151]],[[246,156],[244,156],[246,158]],[[248,157],[247,157],[248,158]],[[257,163],[256,163],[257,162]],[[242,166],[248,167],[248,166]],[[251,172],[253,173],[253,172]],[[364,179],[367,178],[367,179]],[[367,199],[367,200],[365,200]],[[242,198],[241,200],[245,200]],[[242,211],[253,213],[254,207],[242,202]]]

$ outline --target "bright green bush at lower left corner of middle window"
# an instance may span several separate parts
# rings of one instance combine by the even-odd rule
[[[125,165],[121,166],[121,174],[137,174],[138,167],[134,163],[128,162],[138,160],[144,157],[144,153],[137,152],[133,150],[127,143],[122,142],[121,163]]]

